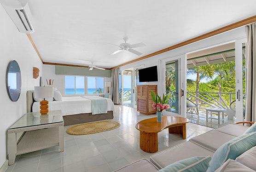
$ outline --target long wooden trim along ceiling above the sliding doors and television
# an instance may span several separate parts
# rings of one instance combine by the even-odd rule
[[[247,25],[247,24],[254,23],[254,22],[256,22],[256,16],[252,16],[252,17],[246,18],[246,19],[241,20],[241,21],[239,21],[239,22],[236,22],[236,23],[227,25],[227,26],[225,26],[225,27],[223,27],[223,28],[216,29],[216,30],[211,31],[211,32],[206,33],[206,34],[202,34],[202,35],[200,35],[200,36],[198,36],[198,37],[192,38],[192,39],[190,39],[190,40],[186,40],[186,41],[181,42],[181,43],[179,43],[179,44],[176,44],[176,45],[174,45],[174,46],[170,46],[170,47],[165,48],[165,49],[163,49],[163,50],[160,50],[160,51],[151,53],[151,54],[146,55],[146,56],[144,56],[144,57],[137,58],[137,59],[132,60],[132,61],[127,62],[127,63],[120,64],[120,65],[115,66],[115,67],[112,67],[112,68],[110,68],[110,69],[116,69],[116,68],[119,68],[119,67],[121,67],[121,66],[125,66],[125,65],[127,65],[127,64],[131,64],[131,63],[134,63],[134,62],[138,62],[138,61],[140,61],[140,60],[144,60],[144,59],[146,59],[146,58],[156,56],[156,55],[161,54],[161,53],[163,53],[163,52],[168,52],[168,51],[170,51],[170,50],[174,50],[174,49],[179,48],[179,47],[181,47],[181,46],[186,46],[186,45],[188,45],[188,44],[192,44],[192,43],[197,42],[197,41],[199,41],[199,40],[204,40],[204,39],[209,38],[209,37],[211,37],[211,36],[215,36],[215,35],[217,35],[217,34],[221,34],[221,33],[223,33],[223,32],[227,32],[227,31],[229,31],[229,30],[236,29],[236,28],[239,28],[239,27],[241,27],[241,26],[245,26],[245,25]]]

